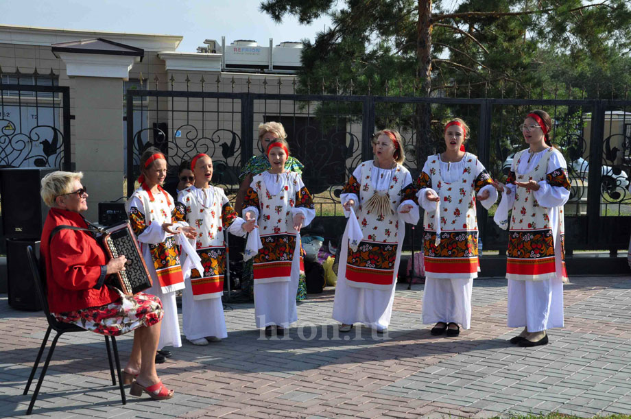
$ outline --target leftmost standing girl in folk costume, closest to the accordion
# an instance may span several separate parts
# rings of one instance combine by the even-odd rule
[[[153,285],[145,293],[159,297],[165,311],[158,349],[178,348],[182,340],[176,291],[184,288],[184,277],[176,245],[180,244],[180,235],[193,239],[195,228],[176,221],[183,219],[183,215],[176,213],[173,198],[160,186],[167,176],[165,156],[151,147],[141,156],[140,167],[140,187],[127,201],[126,209],[152,276]]]

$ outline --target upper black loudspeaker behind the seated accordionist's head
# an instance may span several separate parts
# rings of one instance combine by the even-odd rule
[[[48,207],[40,196],[41,180],[56,169],[0,169],[2,226],[8,239],[42,235]]]

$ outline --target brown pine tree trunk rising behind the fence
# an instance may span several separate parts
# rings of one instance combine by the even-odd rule
[[[416,80],[420,95],[429,97],[431,87],[431,0],[418,0],[416,25]],[[420,171],[431,153],[431,106],[416,106],[416,167]]]

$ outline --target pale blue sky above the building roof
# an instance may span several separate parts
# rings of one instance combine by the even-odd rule
[[[291,16],[277,24],[259,11],[259,0],[0,0],[0,25],[184,36],[179,52],[195,52],[205,39],[237,39],[267,46],[315,39],[328,18],[300,25]]]

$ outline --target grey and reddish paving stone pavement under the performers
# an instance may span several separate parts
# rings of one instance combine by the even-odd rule
[[[112,386],[103,338],[64,335],[33,417],[97,418],[488,418],[557,411],[631,414],[631,276],[572,278],[565,328],[551,343],[517,348],[505,326],[506,280],[477,279],[472,328],[433,337],[420,320],[422,285],[399,284],[387,335],[331,319],[333,289],[298,304],[298,326],[278,339],[254,327],[252,304],[228,304],[228,339],[184,342],[158,374],[171,400]],[[23,396],[45,334],[42,313],[14,311],[0,295],[0,417],[23,416]],[[121,359],[131,338],[120,337]],[[33,387],[34,388],[34,385]]]

